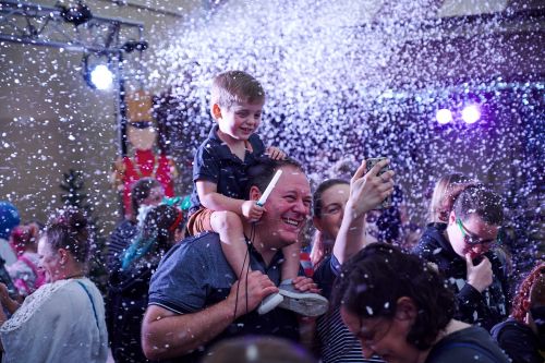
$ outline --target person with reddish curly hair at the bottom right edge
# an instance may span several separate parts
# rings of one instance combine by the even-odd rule
[[[513,363],[545,361],[545,263],[522,280],[511,316],[496,325],[492,336]]]

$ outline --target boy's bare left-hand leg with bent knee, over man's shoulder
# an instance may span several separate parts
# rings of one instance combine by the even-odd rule
[[[237,278],[245,273],[246,268],[251,271],[250,256],[246,256],[247,246],[240,217],[229,210],[214,211],[210,216],[210,226],[213,231],[219,234],[221,250],[237,274]]]

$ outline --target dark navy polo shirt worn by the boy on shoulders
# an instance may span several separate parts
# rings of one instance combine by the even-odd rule
[[[211,128],[208,137],[201,144],[193,160],[193,192],[190,214],[195,213],[201,207],[195,184],[197,180],[216,183],[219,194],[235,199],[245,199],[246,169],[265,153],[265,145],[257,134],[252,134],[249,143],[252,145],[252,152],[246,150],[244,160],[241,160],[218,137],[218,125],[215,124]]]

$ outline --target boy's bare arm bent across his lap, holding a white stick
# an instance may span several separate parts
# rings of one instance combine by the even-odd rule
[[[249,220],[262,217],[264,208],[255,201],[242,201],[228,197],[217,192],[217,184],[209,181],[197,180],[196,189],[201,204],[210,210],[230,210]]]

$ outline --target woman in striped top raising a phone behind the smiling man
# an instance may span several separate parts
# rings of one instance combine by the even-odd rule
[[[366,229],[368,211],[393,192],[393,170],[377,176],[388,162],[383,160],[367,170],[364,161],[350,184],[342,180],[325,181],[314,194],[314,226],[334,240],[331,253],[324,257],[314,275],[326,298],[331,295],[342,264],[370,243]],[[376,358],[367,360],[362,356],[358,339],[342,324],[339,305],[332,304],[316,323],[315,343],[322,362],[382,362]]]

